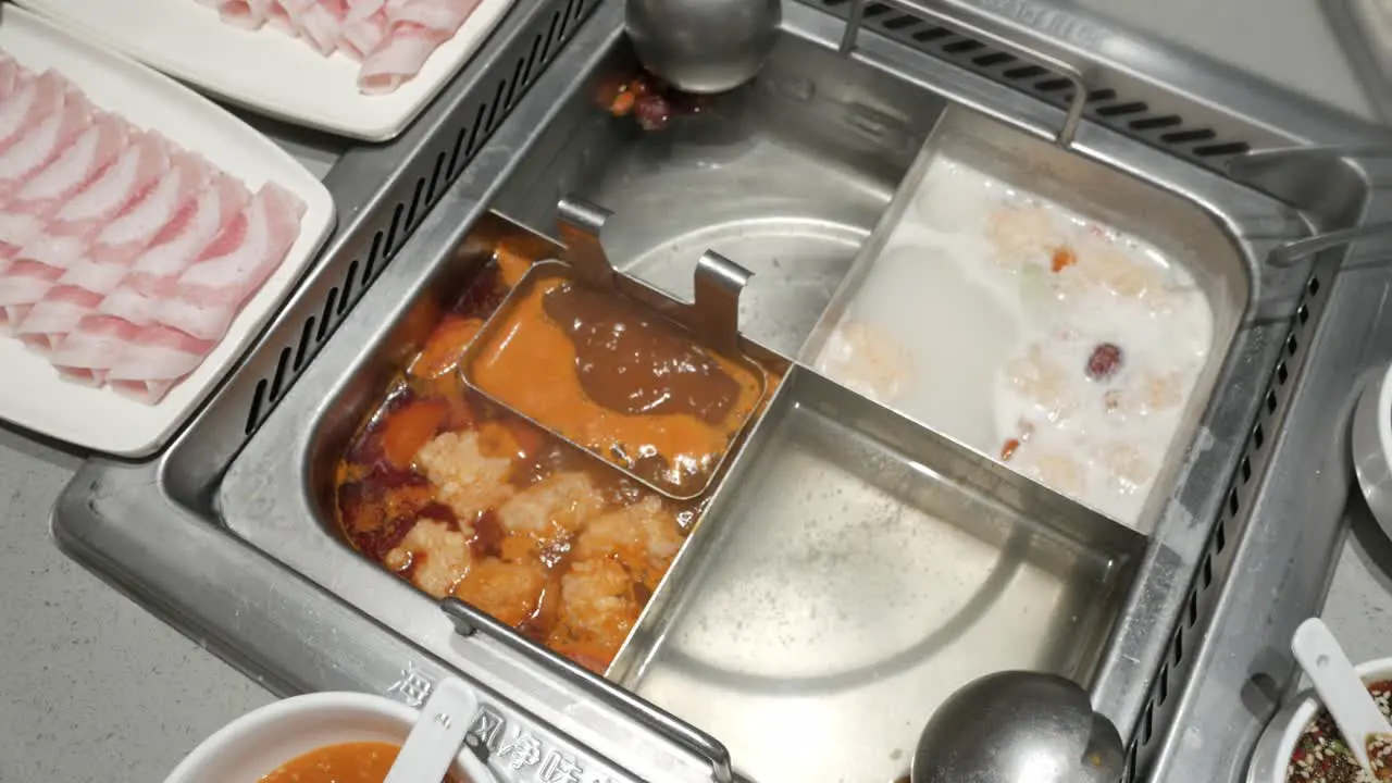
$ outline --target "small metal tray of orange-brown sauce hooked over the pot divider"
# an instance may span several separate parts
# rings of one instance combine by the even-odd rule
[[[558,213],[565,261],[528,269],[469,343],[459,375],[493,403],[628,478],[674,500],[693,500],[711,486],[768,396],[768,371],[739,341],[739,294],[750,273],[706,251],[696,263],[695,301],[668,298],[653,307],[653,291],[643,287],[643,291],[604,255],[607,212],[562,199]],[[572,304],[555,307],[569,309],[553,312],[562,297]],[[535,373],[537,362],[553,366],[523,382],[519,371]],[[564,398],[572,380],[578,385]],[[636,424],[649,419],[649,428]],[[668,435],[670,447],[660,442]],[[713,435],[709,443],[706,435]]]

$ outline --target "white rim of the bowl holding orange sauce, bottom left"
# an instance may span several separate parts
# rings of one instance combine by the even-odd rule
[[[180,763],[164,783],[256,783],[285,762],[324,745],[401,745],[420,712],[383,697],[323,692],[288,698],[232,720]],[[461,750],[461,755],[470,752]],[[457,759],[450,773],[468,780]]]

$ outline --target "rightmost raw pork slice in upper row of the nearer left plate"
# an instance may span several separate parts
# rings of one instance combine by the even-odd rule
[[[200,340],[221,340],[237,312],[285,259],[305,203],[267,183],[178,279],[155,319]]]

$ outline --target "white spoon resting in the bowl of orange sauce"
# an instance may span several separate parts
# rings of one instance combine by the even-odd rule
[[[420,720],[411,729],[383,783],[443,780],[454,758],[459,755],[459,747],[477,711],[479,699],[459,680],[451,679],[436,685],[434,694],[420,711]],[[497,783],[476,755],[466,752],[462,758],[464,770],[472,783]]]

